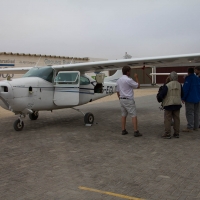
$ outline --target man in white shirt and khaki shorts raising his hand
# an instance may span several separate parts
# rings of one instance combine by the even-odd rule
[[[133,89],[140,87],[138,75],[134,74],[135,81],[130,78],[131,68],[129,66],[124,66],[122,72],[123,76],[117,81],[117,96],[120,100],[122,113],[122,135],[128,134],[126,131],[126,117],[129,114],[132,117],[134,136],[139,137],[142,136],[142,134],[138,130],[137,113],[133,95]]]

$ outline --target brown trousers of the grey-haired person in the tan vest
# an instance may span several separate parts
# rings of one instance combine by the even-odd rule
[[[179,134],[180,131],[180,109],[179,110],[165,110],[165,133],[171,135],[171,122],[174,120],[174,134]]]

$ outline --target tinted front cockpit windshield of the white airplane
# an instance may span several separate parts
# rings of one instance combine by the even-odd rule
[[[39,77],[52,83],[53,69],[52,67],[41,67],[41,68],[33,67],[22,77]]]

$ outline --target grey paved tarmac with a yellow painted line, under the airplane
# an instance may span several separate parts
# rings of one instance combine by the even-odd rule
[[[16,132],[17,116],[0,108],[0,199],[200,199],[200,131],[162,139],[157,90],[135,92],[139,138],[130,117],[129,134],[121,135],[116,94],[78,107],[94,114],[91,127],[81,113],[62,109],[26,117]]]

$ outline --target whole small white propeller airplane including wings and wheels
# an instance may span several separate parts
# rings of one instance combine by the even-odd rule
[[[14,129],[24,127],[23,117],[36,120],[39,111],[73,108],[84,115],[85,124],[92,124],[92,113],[83,113],[74,107],[111,95],[116,91],[116,81],[122,76],[121,68],[199,66],[200,53],[178,56],[134,58],[101,62],[87,62],[47,67],[5,68],[0,73],[23,74],[22,78],[0,81],[0,106],[19,119]],[[104,77],[102,71],[116,70],[113,76]],[[87,76],[96,72],[96,80]]]

